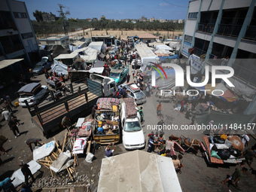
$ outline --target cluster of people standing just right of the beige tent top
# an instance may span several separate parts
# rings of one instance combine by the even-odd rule
[[[155,134],[148,134],[148,152],[151,153],[153,151],[164,157],[172,157],[175,171],[177,173],[181,173],[181,167],[183,167],[183,157],[181,154],[178,154],[178,157],[175,155],[173,146],[174,142],[172,141],[171,136],[169,136],[169,140],[166,141],[163,139],[163,133],[158,134],[158,132],[156,132]]]

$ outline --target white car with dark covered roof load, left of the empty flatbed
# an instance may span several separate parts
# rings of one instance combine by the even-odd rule
[[[25,100],[28,102],[29,106],[39,103],[44,94],[47,93],[47,90],[48,87],[40,83],[26,84],[17,92],[20,96],[20,106],[26,107]]]

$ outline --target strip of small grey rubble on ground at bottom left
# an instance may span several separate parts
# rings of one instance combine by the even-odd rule
[[[93,184],[93,180],[90,181],[90,178],[87,175],[79,175],[78,172],[75,173],[74,178],[76,178],[75,182],[72,182],[69,175],[62,175],[61,178],[58,176],[54,177],[45,177],[38,178],[33,184],[33,188],[43,188],[43,187],[81,187],[86,186],[90,187]]]

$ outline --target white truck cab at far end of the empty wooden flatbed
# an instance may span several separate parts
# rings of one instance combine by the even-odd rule
[[[90,74],[90,80],[96,81],[102,84],[102,93],[104,96],[116,96],[117,95],[117,85],[114,79],[105,77],[103,75]]]

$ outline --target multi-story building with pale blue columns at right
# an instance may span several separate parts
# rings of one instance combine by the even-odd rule
[[[256,113],[256,0],[194,0],[189,2],[181,51],[204,59],[203,65],[230,66],[229,87],[249,103],[245,114]],[[203,69],[203,68],[202,68]],[[203,73],[203,70],[201,71]]]

